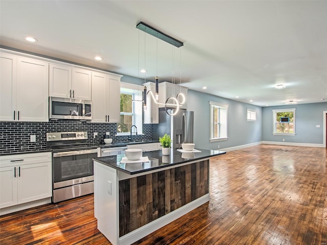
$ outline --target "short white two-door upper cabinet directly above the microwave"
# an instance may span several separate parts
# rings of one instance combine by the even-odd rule
[[[53,97],[91,100],[91,71],[50,64],[49,94]]]

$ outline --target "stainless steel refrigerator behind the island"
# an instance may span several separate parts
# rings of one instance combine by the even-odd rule
[[[168,109],[170,114],[174,109]],[[171,148],[181,148],[182,143],[193,143],[194,112],[181,110],[176,115],[170,116],[165,108],[159,108],[159,124],[153,125],[153,139],[165,134],[172,139]]]

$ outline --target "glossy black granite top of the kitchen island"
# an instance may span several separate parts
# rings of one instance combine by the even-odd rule
[[[186,162],[193,162],[226,153],[217,150],[197,150],[201,152],[181,153],[176,149],[171,149],[169,156],[163,156],[161,150],[143,152],[143,157],[147,156],[149,158],[149,162],[121,163],[120,161],[123,157],[125,157],[125,155],[97,157],[93,158],[93,160],[100,162],[104,165],[110,166],[112,168],[121,170],[129,175],[135,175],[139,173],[145,173],[154,169],[165,168]]]

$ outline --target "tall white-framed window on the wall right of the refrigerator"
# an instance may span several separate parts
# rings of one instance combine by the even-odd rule
[[[227,139],[228,105],[209,102],[210,105],[210,141]]]

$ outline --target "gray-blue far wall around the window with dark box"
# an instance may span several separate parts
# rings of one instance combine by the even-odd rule
[[[294,136],[272,135],[273,122],[272,110],[295,108],[295,133]],[[274,142],[291,142],[291,143],[314,143],[323,144],[323,111],[327,111],[327,102],[264,107],[262,109],[263,127],[262,140]],[[316,128],[320,125],[320,128]]]

